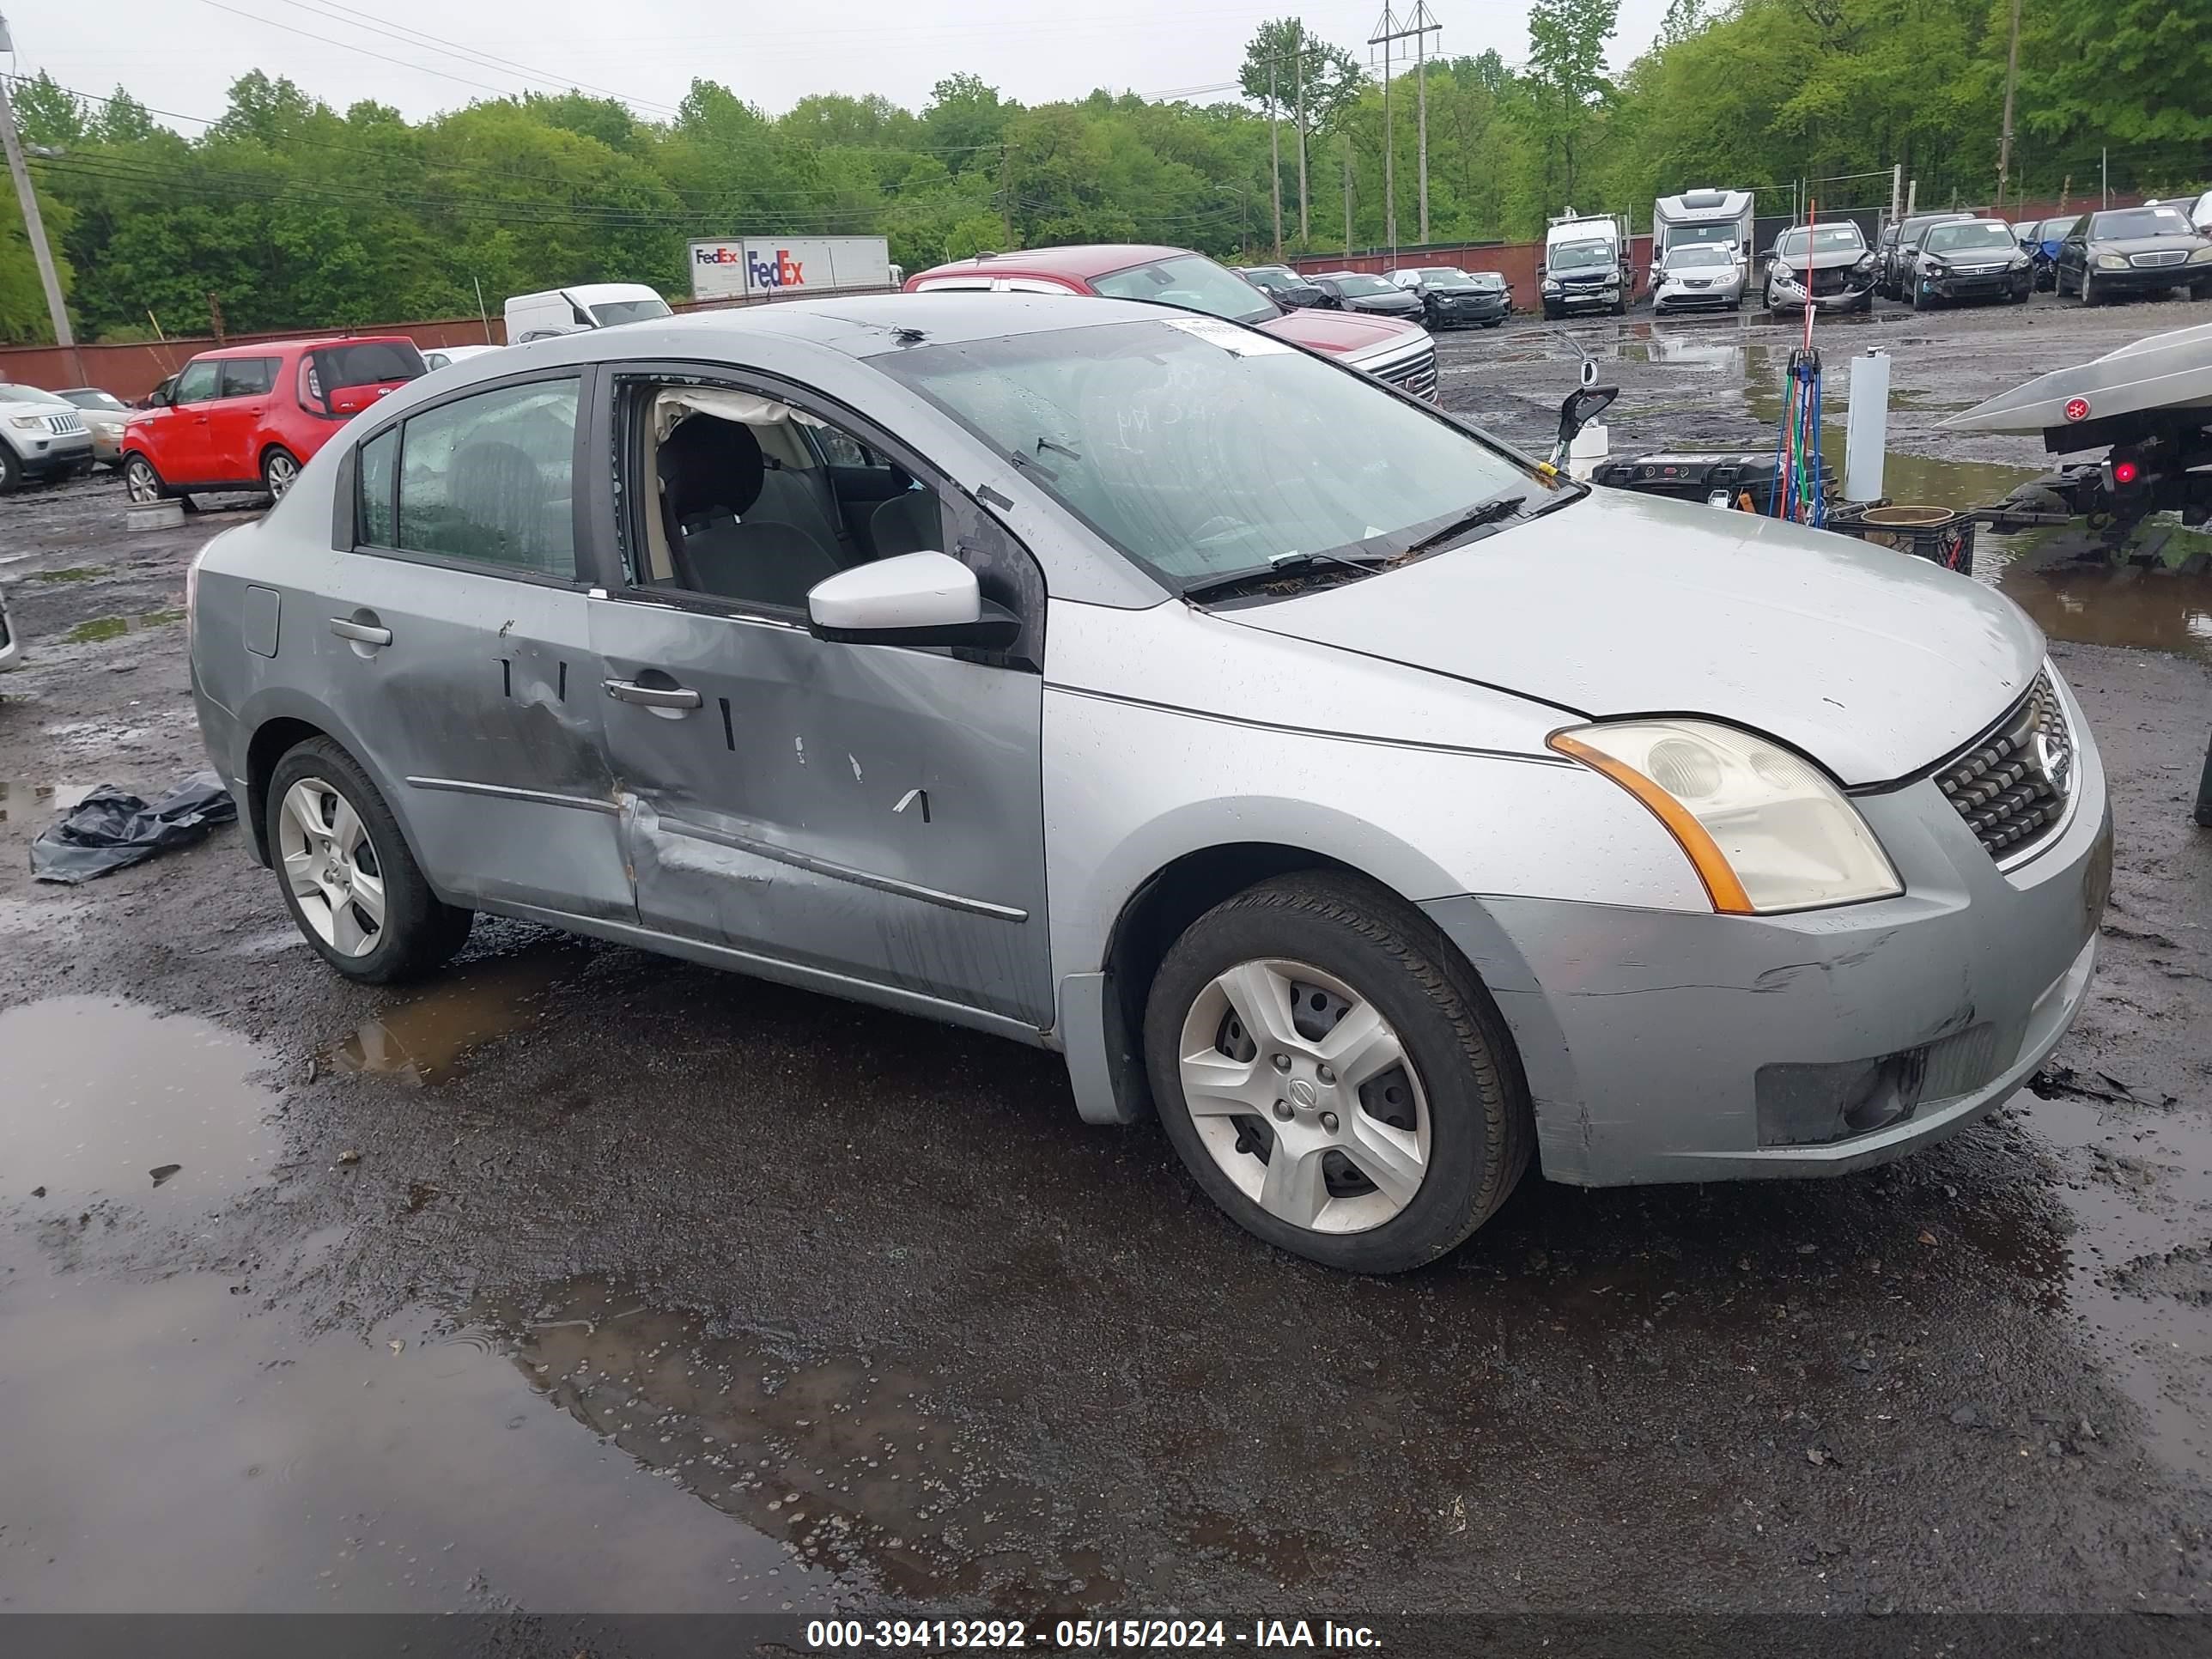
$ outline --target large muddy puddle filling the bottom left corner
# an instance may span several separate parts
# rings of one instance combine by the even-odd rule
[[[487,1336],[398,1323],[305,1338],[212,1274],[128,1283],[9,1265],[11,1610],[776,1613],[827,1599],[776,1542],[582,1433]]]

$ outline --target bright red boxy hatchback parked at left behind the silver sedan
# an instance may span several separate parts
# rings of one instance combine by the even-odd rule
[[[135,502],[195,489],[283,495],[338,427],[429,365],[405,334],[201,352],[124,425]]]

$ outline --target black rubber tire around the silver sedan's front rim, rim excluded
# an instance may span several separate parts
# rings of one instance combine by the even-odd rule
[[[1190,1119],[1183,1020],[1214,978],[1265,958],[1307,962],[1367,998],[1420,1075],[1427,1172],[1402,1210],[1365,1232],[1318,1232],[1267,1214]],[[1489,991],[1420,911],[1360,876],[1279,876],[1206,911],[1152,980],[1144,1053],[1168,1139],[1206,1194],[1259,1239],[1345,1272],[1405,1272],[1453,1250],[1506,1201],[1535,1146],[1528,1084]]]

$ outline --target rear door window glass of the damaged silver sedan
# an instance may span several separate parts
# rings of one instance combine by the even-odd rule
[[[398,546],[575,582],[575,414],[535,380],[403,422]]]

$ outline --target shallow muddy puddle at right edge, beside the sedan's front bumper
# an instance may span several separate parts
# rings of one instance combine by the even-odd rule
[[[2212,1475],[2212,1126],[2022,1091],[2011,1108],[2057,1148],[2073,1212],[2068,1301],[2168,1464]]]

